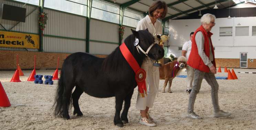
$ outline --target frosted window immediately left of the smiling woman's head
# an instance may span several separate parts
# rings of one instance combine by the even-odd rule
[[[143,18],[143,13],[125,9],[123,25],[137,27],[138,22]]]

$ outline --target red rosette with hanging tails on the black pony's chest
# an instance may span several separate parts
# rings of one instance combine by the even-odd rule
[[[141,97],[145,97],[144,95],[144,91],[145,90],[145,94],[147,94],[147,87],[146,87],[146,71],[144,69],[138,69],[135,75],[135,79],[138,85],[138,90],[140,92],[140,96]]]

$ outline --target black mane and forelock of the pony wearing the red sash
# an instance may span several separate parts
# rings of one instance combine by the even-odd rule
[[[148,38],[148,33],[145,32],[146,30],[138,31],[140,37],[144,37],[146,40],[144,43],[150,43]],[[147,31],[148,32],[148,31]],[[153,36],[152,36],[153,37]],[[137,60],[138,64],[141,65],[143,60],[146,59],[146,55],[142,52],[138,53],[136,47],[134,46],[135,36],[132,34],[125,39],[125,45],[129,49],[134,58]],[[140,44],[141,46],[141,44]],[[143,54],[143,55],[141,55]],[[111,54],[109,54],[105,60],[103,61],[102,67],[104,70],[107,70],[109,73],[116,73],[118,71],[117,68],[124,69],[127,65],[127,61],[125,60],[124,56],[122,55],[120,48],[117,47]]]

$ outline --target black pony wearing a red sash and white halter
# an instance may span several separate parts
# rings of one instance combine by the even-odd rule
[[[154,37],[148,32],[148,29],[140,31],[131,29],[131,31],[133,34],[125,39],[125,45],[141,66],[147,56],[140,50],[140,53],[137,51],[134,41],[138,38],[139,46],[146,52],[154,43]],[[158,60],[163,55],[164,50],[158,44],[154,44],[148,53],[148,56],[153,60]],[[75,86],[76,88],[72,93]],[[63,119],[70,119],[68,109],[73,100],[73,114],[83,116],[78,105],[79,97],[83,92],[99,98],[115,96],[114,124],[123,127],[124,124],[128,123],[128,109],[136,86],[134,70],[125,60],[119,47],[106,58],[99,58],[89,53],[73,53],[65,59],[62,65],[54,103],[54,114],[62,116]],[[124,101],[125,106],[120,118]]]

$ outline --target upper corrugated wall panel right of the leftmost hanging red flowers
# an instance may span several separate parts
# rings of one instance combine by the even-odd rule
[[[45,35],[86,39],[86,18],[44,9],[48,13]]]

